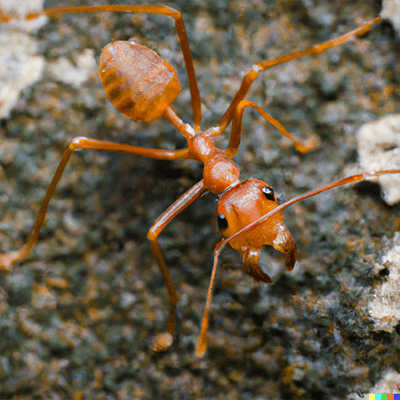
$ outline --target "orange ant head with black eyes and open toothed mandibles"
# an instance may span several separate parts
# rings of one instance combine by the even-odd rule
[[[279,204],[271,186],[259,179],[248,179],[228,189],[217,206],[218,228],[224,237],[234,235]],[[261,246],[270,245],[285,254],[286,268],[291,271],[297,259],[297,247],[278,212],[260,226],[233,239],[230,245],[243,254],[244,272],[256,280],[270,282],[258,266]]]

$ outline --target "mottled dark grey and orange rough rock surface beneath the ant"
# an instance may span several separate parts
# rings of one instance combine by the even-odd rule
[[[106,2],[58,5],[81,3]],[[204,127],[219,121],[253,63],[343,34],[380,11],[373,0],[167,4],[184,15]],[[31,38],[45,62],[43,75],[0,126],[2,252],[26,241],[73,137],[185,145],[168,123],[135,123],[109,104],[93,60],[106,43],[133,38],[166,58],[182,85],[174,108],[192,121],[170,19],[70,15],[51,19]],[[235,157],[242,178],[263,179],[289,199],[356,171],[356,131],[400,112],[398,49],[391,25],[383,23],[342,47],[262,73],[248,98],[297,137],[319,137],[321,147],[301,155],[246,111]],[[400,372],[400,325],[377,330],[369,312],[374,291],[394,268],[384,257],[399,245],[400,206],[386,205],[376,183],[287,209],[299,259],[289,273],[282,254],[265,249],[272,285],[255,283],[243,274],[239,254],[223,252],[201,359],[194,347],[220,236],[215,196],[199,199],[160,237],[180,296],[178,327],[168,351],[150,350],[168,308],[146,233],[201,177],[201,165],[190,161],[73,155],[37,246],[0,275],[1,399],[360,399],[387,371]]]

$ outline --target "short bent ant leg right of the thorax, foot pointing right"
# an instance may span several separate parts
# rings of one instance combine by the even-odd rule
[[[319,146],[320,142],[317,138],[310,139],[305,143],[300,142],[279,121],[271,117],[271,115],[267,114],[259,105],[253,103],[250,100],[242,100],[237,105],[233,116],[231,138],[229,140],[228,147],[225,150],[225,154],[227,155],[227,157],[232,158],[239,150],[240,136],[242,133],[243,112],[246,107],[253,107],[256,111],[258,111],[269,123],[271,123],[276,129],[278,129],[278,131],[283,136],[289,138],[294,143],[294,147],[296,148],[296,150],[300,153],[307,153],[308,151],[313,150]]]

